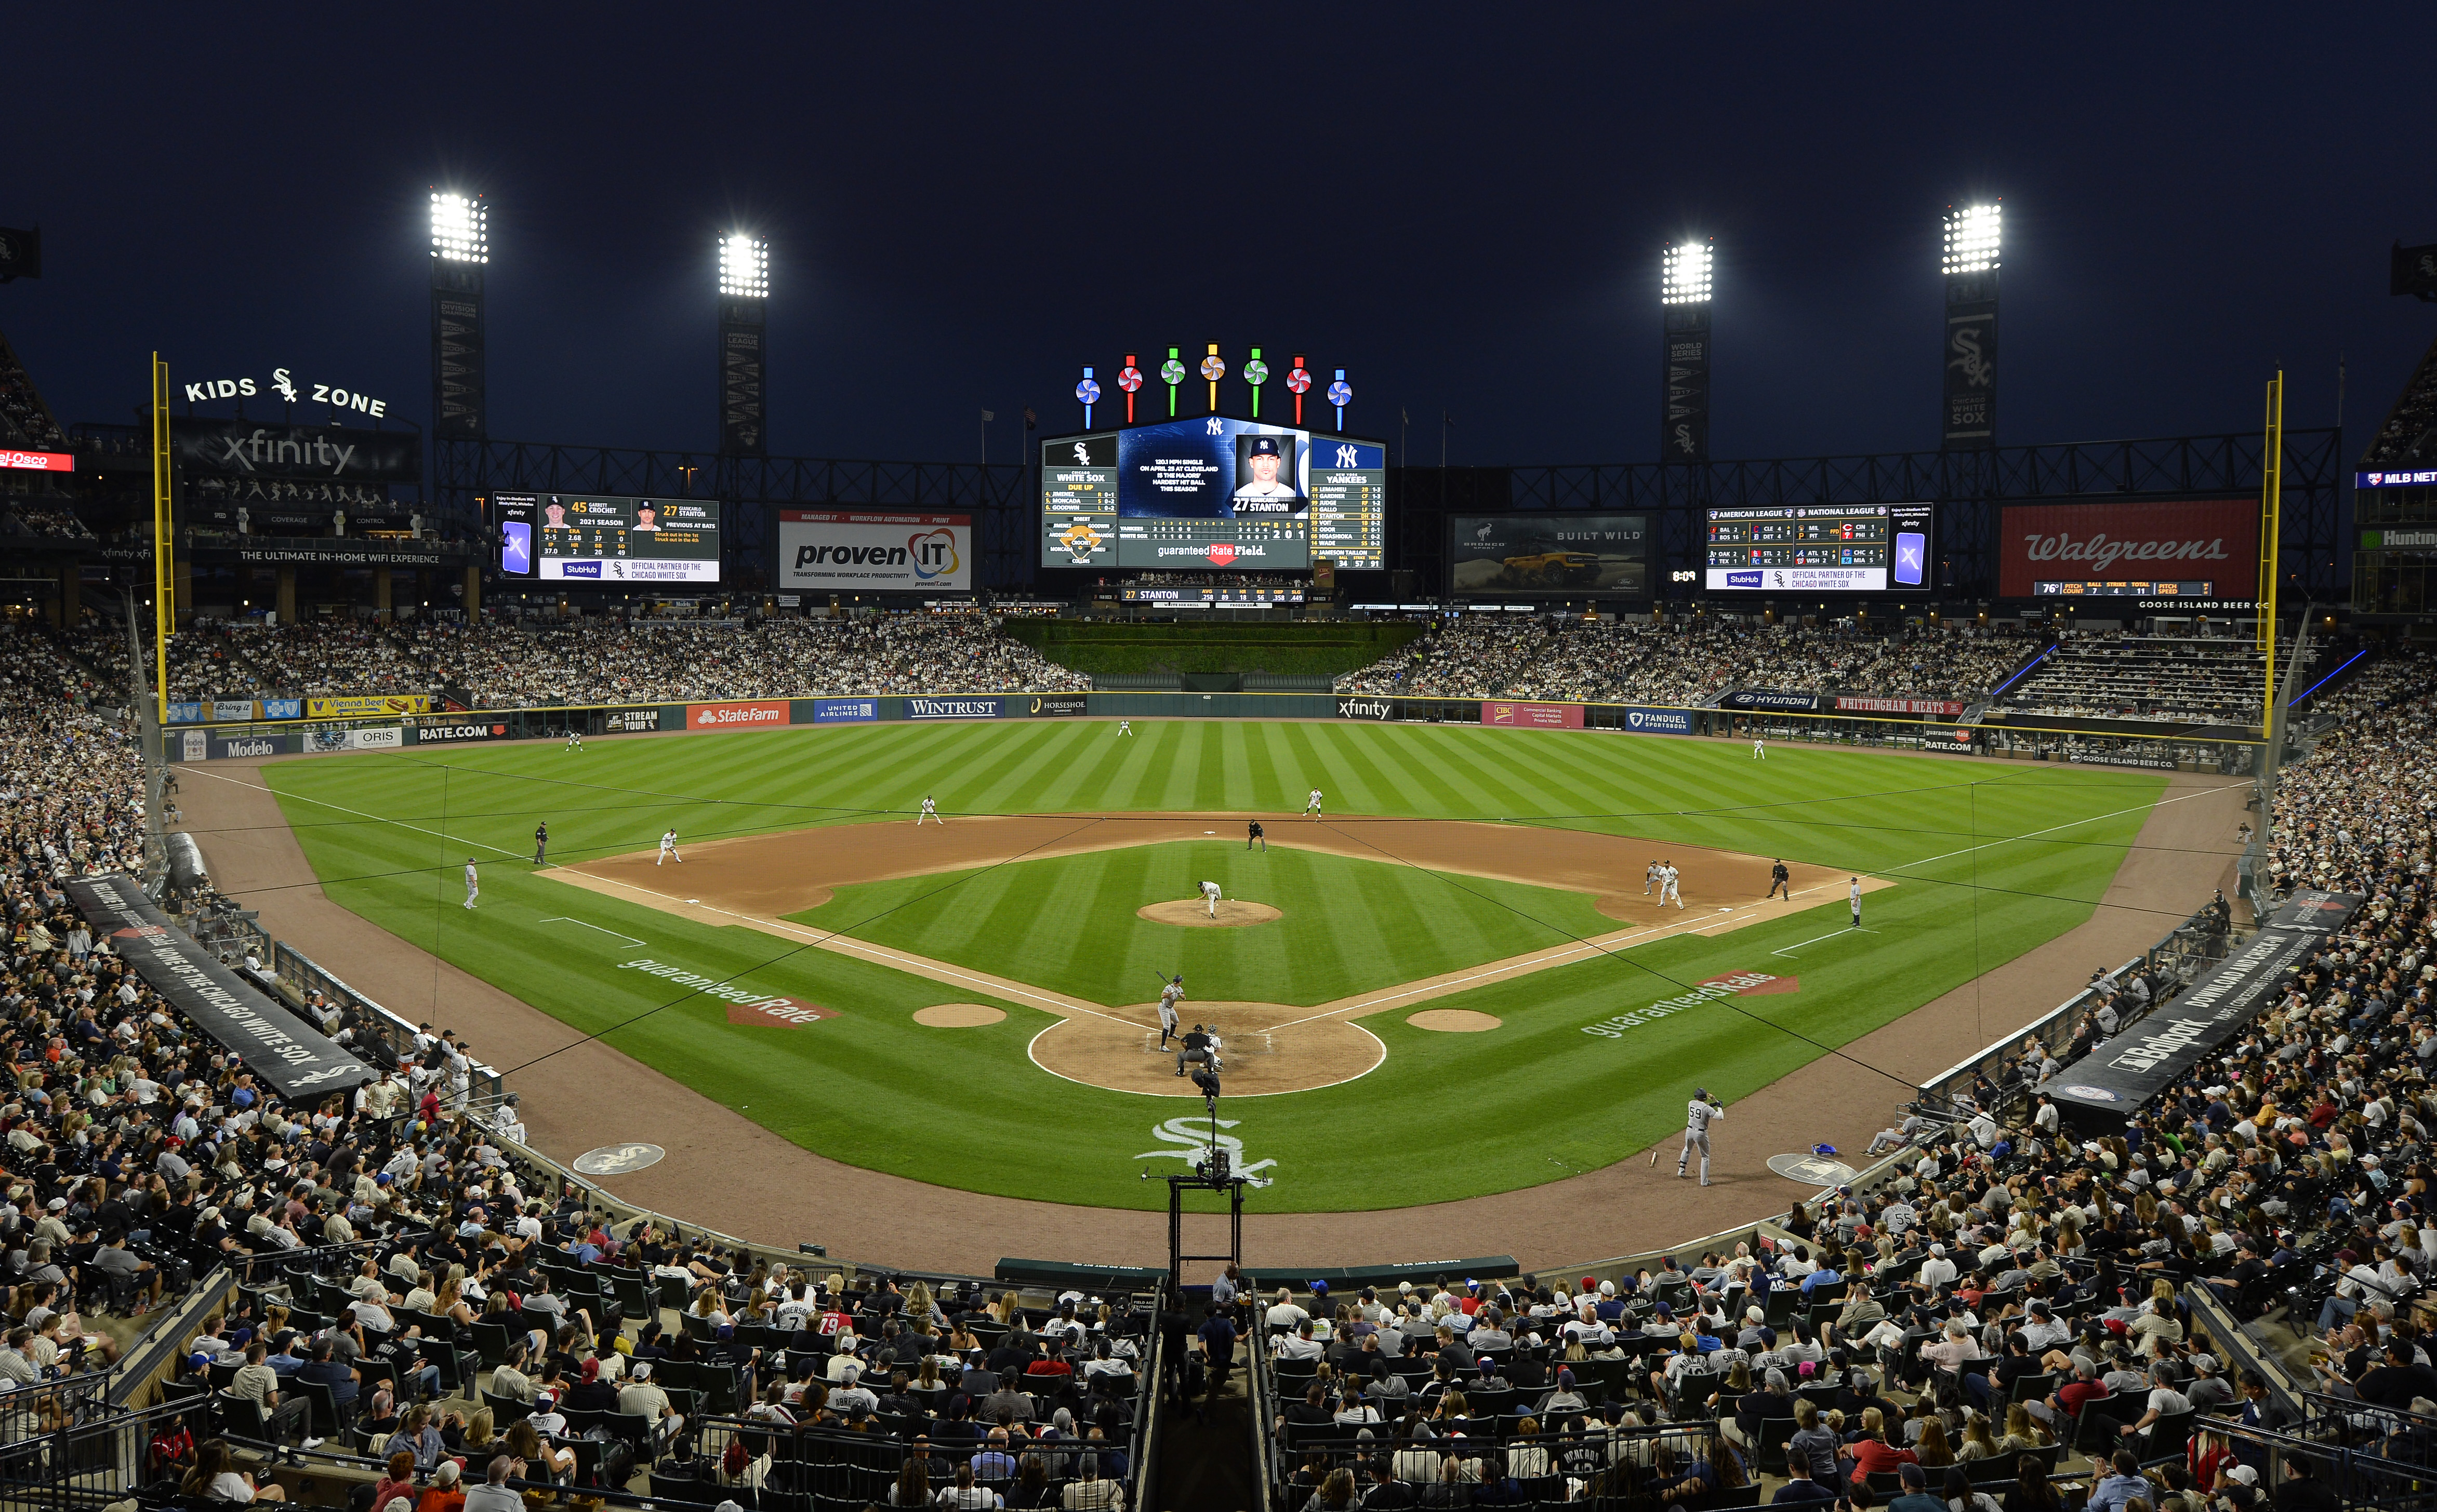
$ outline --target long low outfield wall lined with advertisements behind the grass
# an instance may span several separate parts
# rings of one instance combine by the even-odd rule
[[[2067,760],[2154,772],[2247,772],[2259,740],[2220,726],[1950,723],[1889,713],[1684,709],[1662,704],[1565,704],[1535,699],[1421,699],[1394,694],[853,694],[829,699],[726,699],[714,704],[590,704],[302,723],[185,726],[161,733],[171,762],[400,750],[582,735],[773,730],[851,723],[965,723],[985,718],[1343,718],[1618,735],[1767,735],[1769,740],[1918,752]]]

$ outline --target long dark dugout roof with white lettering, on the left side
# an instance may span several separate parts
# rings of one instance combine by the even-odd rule
[[[132,877],[73,879],[68,898],[156,993],[244,1057],[246,1069],[283,1098],[317,1098],[373,1081],[370,1066],[305,1027],[188,940],[185,930],[144,898]]]

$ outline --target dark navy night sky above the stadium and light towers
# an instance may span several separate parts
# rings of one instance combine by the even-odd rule
[[[712,446],[729,226],[775,243],[770,450],[836,458],[972,460],[987,407],[1014,460],[1082,363],[1218,341],[1348,368],[1416,463],[1440,411],[1455,463],[1652,460],[1682,234],[1716,455],[1933,448],[1972,195],[2006,443],[2252,431],[2276,365],[2332,424],[2342,353],[2357,453],[2437,334],[2386,295],[2437,241],[2427,5],[195,15],[10,12],[0,224],[46,275],[0,331],[61,421],[132,419],[154,348],[424,421],[434,185],[492,202],[500,438]]]

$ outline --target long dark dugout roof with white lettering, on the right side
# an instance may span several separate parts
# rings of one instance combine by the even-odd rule
[[[2076,1130],[2120,1130],[2149,1098],[2242,1032],[2327,942],[2359,894],[2301,891],[2208,974],[2047,1081]]]

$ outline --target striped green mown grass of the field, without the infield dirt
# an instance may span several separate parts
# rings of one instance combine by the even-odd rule
[[[972,993],[531,877],[534,823],[548,818],[553,859],[582,859],[648,850],[670,825],[707,840],[904,823],[926,791],[948,813],[1284,816],[1301,808],[1304,789],[1321,786],[1331,813],[1591,828],[1786,855],[1898,884],[1869,896],[1867,923],[1879,933],[1806,947],[1791,967],[1769,952],[1837,930],[1842,898],[1716,940],[1662,940],[1431,1003],[1504,1018],[1489,1035],[1433,1035],[1401,1013],[1365,1020],[1389,1049],[1370,1076],[1223,1108],[1238,1120],[1228,1135],[1243,1139],[1245,1159],[1277,1161],[1262,1171],[1277,1178],[1262,1193],[1270,1210],[1509,1191],[1643,1149],[1679,1127],[1689,1083],[1740,1098],[2086,920],[2164,789],[2162,777],[2140,772],[1801,745],[1752,762],[1747,745],[1616,733],[1318,721],[1136,721],[1136,730],[1123,740],[1106,721],[829,726],[595,740],[580,755],[556,743],[417,747],[280,762],[266,774],[334,901],[573,1030],[604,1032],[773,1132],[941,1186],[1114,1208],[1165,1203],[1138,1174],[1182,1169],[1155,1154],[1184,1149],[1160,1130],[1197,1105],[1041,1071],[1026,1042],[1053,1020],[1019,1003],[1002,1003],[999,1025],[928,1030],[911,1023],[916,1008]],[[887,830],[872,842],[887,845]],[[485,862],[475,913],[458,906],[465,855]],[[1272,850],[1267,859],[1287,855],[1311,867],[1296,884],[1311,896],[1360,889],[1338,930],[1299,935],[1279,920],[1160,933],[1236,937],[1189,950],[1218,952],[1214,962],[1250,952],[1228,971],[1277,974],[1275,991],[1245,984],[1243,996],[1326,1001],[1350,991],[1343,984],[1443,969],[1418,952],[1409,971],[1394,959],[1433,928],[1465,930],[1450,950],[1474,959],[1599,928],[1586,896],[1423,881],[1387,864],[1333,872],[1321,864],[1328,857],[1309,852]],[[1077,908],[1080,881],[1011,886],[1009,874],[1026,874],[1019,862],[938,874],[928,889],[841,889],[816,918],[1006,976],[1038,971],[1043,986],[1077,996],[1111,981],[1109,1001],[1141,1001],[1123,974],[1155,925],[1136,920],[1133,906],[1184,894],[1162,879],[1150,898],[1126,901],[1126,864],[1111,857],[1097,874],[1067,872],[1094,879],[1087,908]],[[1111,877],[1114,891],[1102,886]],[[1228,886],[1228,877],[1216,879]],[[848,918],[855,911],[860,920]],[[1084,918],[1099,913],[1111,918]],[[2162,918],[2162,930],[2169,923]],[[1275,945],[1260,940],[1265,933]],[[1299,942],[1292,962],[1272,954],[1289,940]],[[731,1027],[724,1001],[626,969],[631,959],[807,998],[838,1018],[799,1030]],[[324,964],[346,974],[346,962]],[[1796,974],[1801,991],[1711,1001],[1616,1037],[1582,1032],[1745,969]],[[446,1006],[395,1008],[446,1018]],[[1889,1096],[1898,1091],[1889,1081]],[[1465,1157],[1443,1159],[1455,1130]]]

